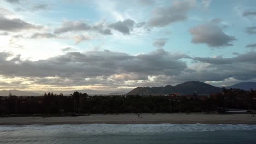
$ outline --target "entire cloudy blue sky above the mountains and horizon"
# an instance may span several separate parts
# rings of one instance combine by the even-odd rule
[[[0,0],[0,90],[256,81],[254,0]]]

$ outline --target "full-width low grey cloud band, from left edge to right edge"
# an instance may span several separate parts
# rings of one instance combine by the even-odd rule
[[[69,47],[67,49],[69,50]],[[256,52],[231,58],[191,58],[162,49],[137,56],[126,53],[67,52],[45,60],[21,60],[20,55],[0,52],[0,75],[26,77],[30,83],[56,86],[101,85],[112,87],[159,86],[184,81],[246,81],[256,79]],[[187,66],[183,58],[193,59]],[[10,59],[10,60],[7,60]]]

